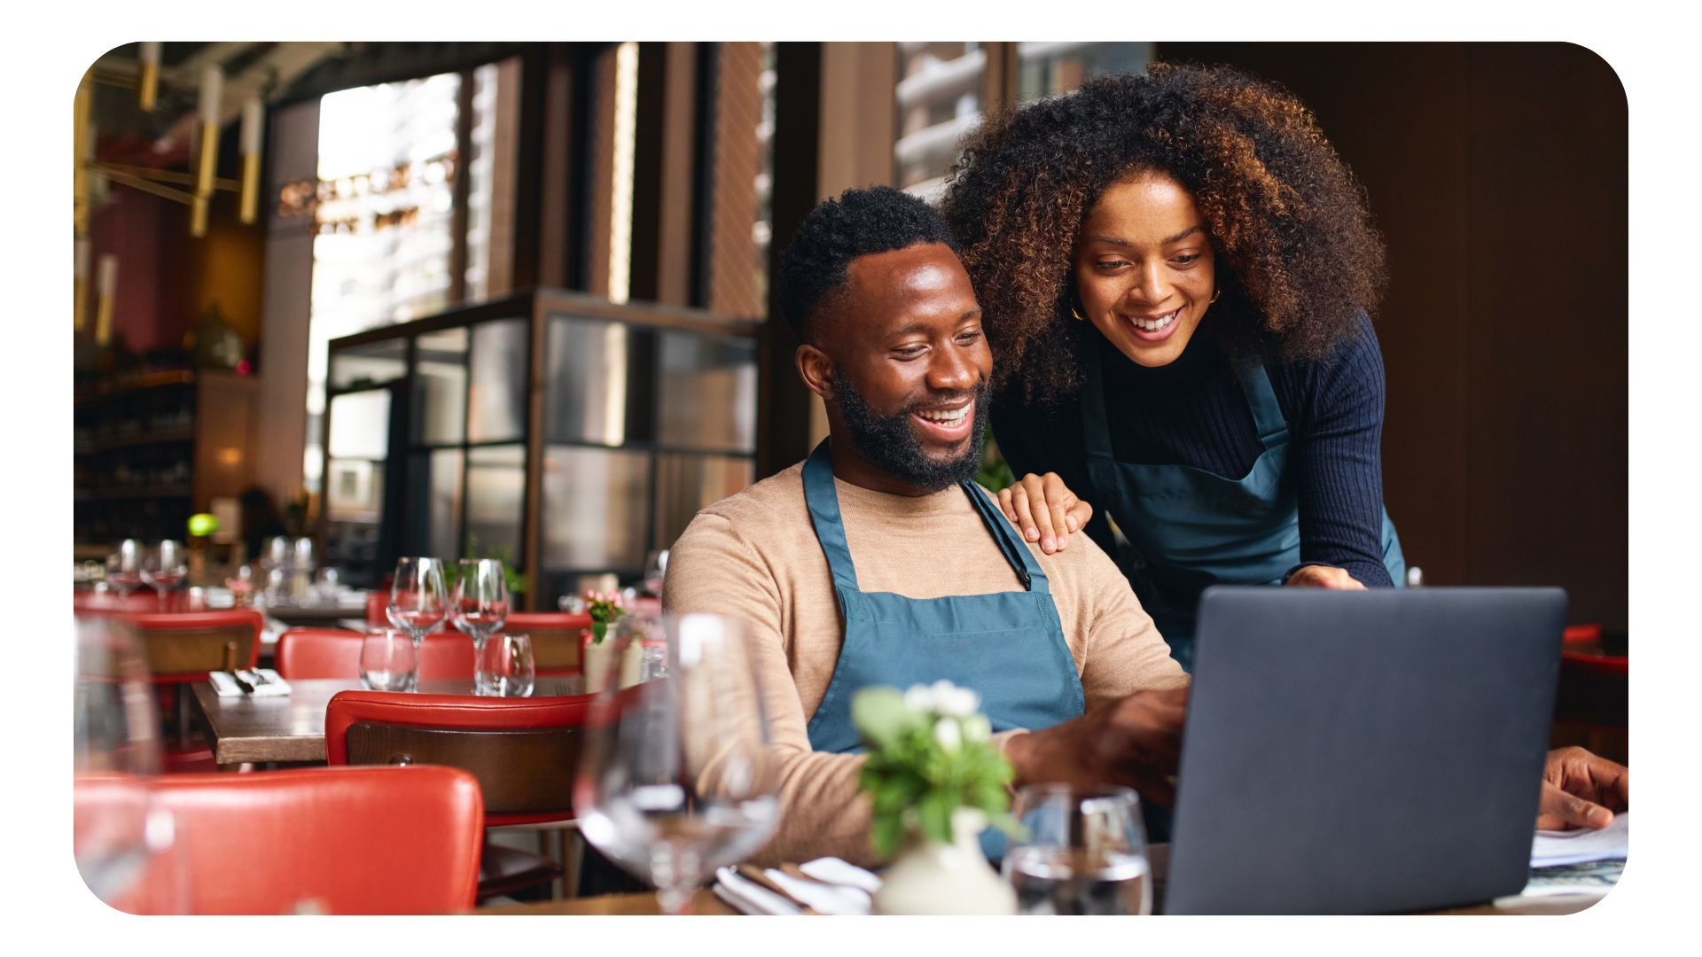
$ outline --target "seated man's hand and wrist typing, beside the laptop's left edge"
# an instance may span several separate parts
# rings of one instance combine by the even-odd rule
[[[1135,691],[1093,707],[1079,719],[1018,734],[1004,748],[1016,787],[1031,783],[1128,785],[1142,799],[1176,800],[1181,724],[1188,688]]]

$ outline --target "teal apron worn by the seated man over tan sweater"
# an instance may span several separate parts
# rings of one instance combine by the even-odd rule
[[[861,591],[839,518],[827,439],[805,461],[803,501],[827,555],[844,620],[834,678],[810,717],[814,751],[861,751],[851,724],[851,696],[871,685],[902,691],[943,678],[970,688],[980,695],[980,710],[994,732],[1016,727],[1040,731],[1082,713],[1081,676],[1064,642],[1047,574],[987,494],[974,482],[963,482],[962,489],[1025,591],[945,598]],[[1002,857],[1002,831],[989,828],[980,843],[989,858]]]

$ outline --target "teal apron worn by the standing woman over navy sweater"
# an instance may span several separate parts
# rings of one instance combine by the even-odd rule
[[[1236,363],[1241,393],[1265,451],[1244,478],[1222,478],[1191,465],[1135,465],[1111,455],[1101,383],[1101,337],[1082,335],[1081,426],[1094,502],[1117,519],[1140,553],[1152,586],[1140,599],[1171,647],[1193,671],[1193,625],[1200,593],[1212,584],[1282,584],[1300,564],[1300,490],[1288,468],[1288,424],[1265,366]],[[1384,567],[1406,584],[1406,559],[1389,511],[1382,516]]]

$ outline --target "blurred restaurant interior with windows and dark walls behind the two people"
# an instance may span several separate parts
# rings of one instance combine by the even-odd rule
[[[1574,237],[1624,262],[1625,97],[1573,44],[116,48],[78,94],[77,555],[197,513],[228,555],[259,487],[357,587],[408,553],[502,555],[526,608],[638,577],[824,434],[766,318],[812,204],[934,196],[989,107],[1166,60],[1287,85],[1365,186],[1425,582],[1561,584],[1622,630],[1627,281]]]

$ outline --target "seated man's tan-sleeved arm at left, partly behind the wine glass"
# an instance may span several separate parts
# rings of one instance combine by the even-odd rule
[[[810,751],[808,719],[786,661],[785,605],[773,569],[732,523],[703,513],[667,560],[667,611],[706,611],[751,625],[752,657],[762,683],[771,756],[778,763],[780,828],[756,863],[841,857],[877,863],[870,846],[870,802],[858,790],[863,758]]]

